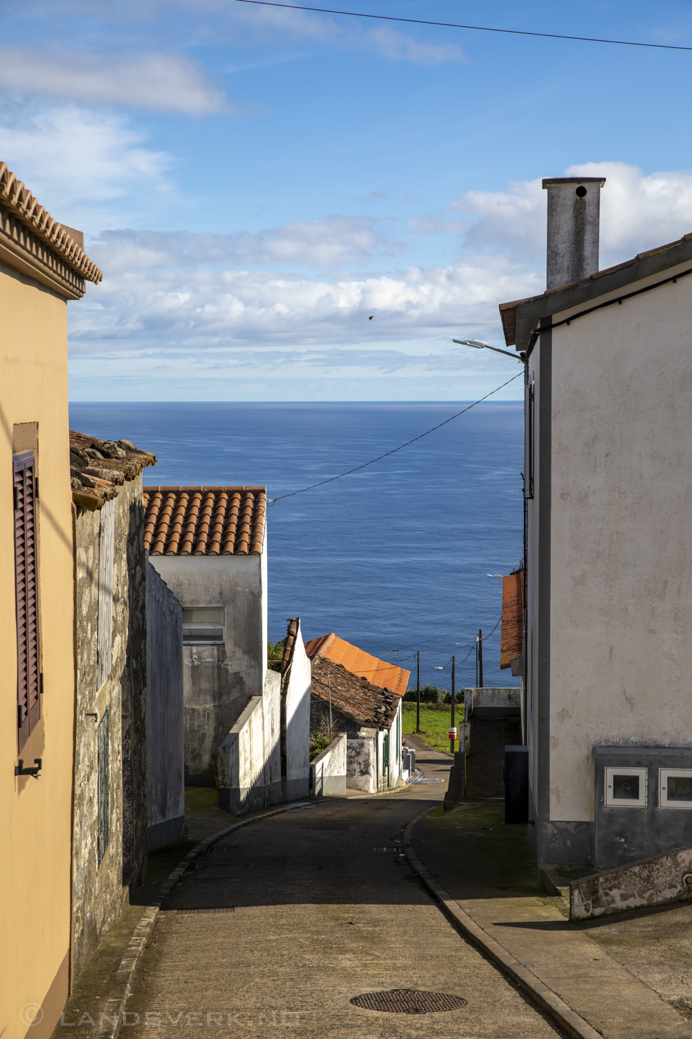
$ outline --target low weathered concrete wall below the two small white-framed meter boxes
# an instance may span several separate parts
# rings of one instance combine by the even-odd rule
[[[684,877],[688,877],[688,886]],[[692,848],[644,858],[570,884],[570,920],[591,920],[692,897]]]

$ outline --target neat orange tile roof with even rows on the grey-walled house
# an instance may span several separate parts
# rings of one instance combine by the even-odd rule
[[[261,555],[266,487],[144,487],[153,556]]]

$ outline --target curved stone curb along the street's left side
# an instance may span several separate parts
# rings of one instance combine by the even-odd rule
[[[233,823],[232,826],[227,826],[224,830],[219,830],[218,833],[212,833],[211,836],[204,837],[203,841],[200,841],[199,844],[195,845],[192,851],[188,852],[183,861],[178,862],[175,867],[168,879],[157,888],[156,895],[149,904],[145,906],[144,911],[139,918],[139,923],[132,933],[132,938],[128,943],[124,955],[120,960],[120,966],[115,975],[115,981],[111,986],[108,998],[106,1000],[105,1006],[101,1011],[99,1019],[102,1023],[96,1032],[96,1039],[117,1039],[122,1027],[126,1004],[128,1002],[128,997],[132,993],[132,983],[135,980],[137,967],[139,966],[142,954],[146,949],[146,943],[149,939],[151,931],[154,930],[154,925],[156,924],[161,910],[161,905],[171,889],[185,876],[191,863],[199,855],[203,854],[211,845],[216,844],[217,841],[220,841],[222,837],[234,832],[234,830],[240,830],[244,826],[250,826],[251,823],[259,823],[264,819],[269,819],[270,816],[279,816],[284,811],[290,811],[293,808],[302,808],[306,804],[316,805],[316,803],[319,802],[301,801],[297,804],[285,804],[281,805],[279,808],[274,808],[272,811],[266,811],[261,816],[255,816],[254,819],[244,819],[240,823]]]

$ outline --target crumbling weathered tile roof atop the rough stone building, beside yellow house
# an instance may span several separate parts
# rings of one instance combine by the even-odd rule
[[[70,430],[70,477],[75,505],[94,511],[115,498],[126,480],[134,480],[156,455],[138,451],[130,441],[100,441]]]

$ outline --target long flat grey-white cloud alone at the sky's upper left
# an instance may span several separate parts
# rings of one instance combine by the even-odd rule
[[[0,49],[0,90],[185,115],[232,110],[205,70],[185,54],[5,48]]]

